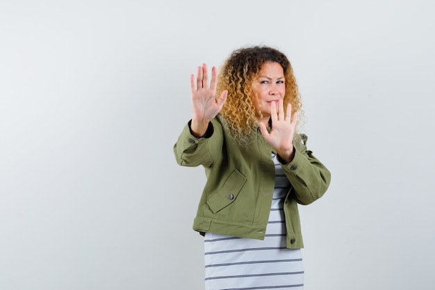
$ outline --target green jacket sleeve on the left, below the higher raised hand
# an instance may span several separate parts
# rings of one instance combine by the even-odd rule
[[[213,124],[214,123],[214,124]],[[190,131],[190,121],[184,126],[183,131],[174,145],[174,154],[180,166],[204,166],[213,164],[212,148],[222,143],[219,138],[220,126],[216,126],[215,120],[208,124],[206,138],[196,138]]]

